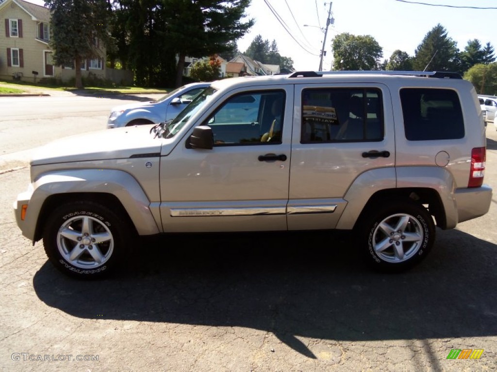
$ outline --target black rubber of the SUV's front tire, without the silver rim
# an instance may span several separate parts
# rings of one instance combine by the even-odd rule
[[[111,256],[102,265],[84,269],[68,262],[60,253],[57,235],[67,219],[87,215],[105,224],[112,234],[114,247]],[[105,206],[94,202],[74,202],[61,205],[50,213],[43,234],[43,246],[52,264],[64,274],[81,278],[100,278],[109,275],[119,265],[124,249],[125,235],[128,229],[117,215]]]

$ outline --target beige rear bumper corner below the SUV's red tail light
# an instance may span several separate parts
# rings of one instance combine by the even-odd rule
[[[492,187],[483,185],[475,188],[461,188],[455,192],[457,222],[468,221],[486,214],[492,202]]]

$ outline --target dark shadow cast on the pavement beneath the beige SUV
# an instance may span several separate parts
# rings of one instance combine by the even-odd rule
[[[351,242],[325,232],[177,235],[143,241],[111,279],[73,280],[47,262],[33,284],[73,316],[260,329],[309,358],[297,337],[497,335],[495,244],[437,229],[420,265],[380,274],[358,264]]]

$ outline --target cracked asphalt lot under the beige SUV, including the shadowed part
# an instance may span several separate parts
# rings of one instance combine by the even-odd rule
[[[103,126],[103,102],[87,100],[75,122]],[[33,121],[29,133],[44,128]],[[487,133],[486,182],[497,185],[497,132]],[[497,368],[496,196],[487,215],[437,229],[430,255],[403,274],[358,265],[346,235],[204,234],[143,240],[116,277],[81,282],[21,237],[11,205],[28,182],[28,168],[0,174],[2,371]],[[484,352],[447,360],[451,349]]]

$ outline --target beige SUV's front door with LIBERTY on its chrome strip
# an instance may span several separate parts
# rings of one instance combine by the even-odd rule
[[[211,126],[216,138],[213,149],[186,147],[192,125],[188,135],[162,157],[161,216],[165,232],[287,228],[293,90],[291,86],[277,90],[251,87],[250,96],[255,98],[247,100],[247,94],[228,92],[214,115],[195,123]],[[278,97],[283,98],[283,111],[279,124],[273,125],[276,119],[270,104]],[[248,117],[254,119],[250,124]],[[277,141],[261,142],[271,126],[272,138]],[[280,160],[264,159],[269,154],[284,156]]]

